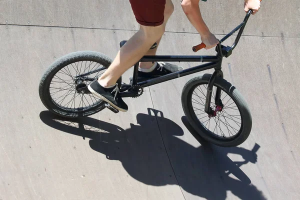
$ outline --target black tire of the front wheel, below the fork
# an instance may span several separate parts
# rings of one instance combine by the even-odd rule
[[[215,137],[212,136],[210,132],[208,132],[203,127],[203,125],[199,122],[199,120],[195,120],[194,116],[192,115],[193,112],[191,111],[192,106],[190,106],[191,100],[188,99],[189,97],[191,97],[190,92],[192,92],[195,85],[199,85],[199,83],[208,84],[210,77],[211,74],[207,74],[207,73],[201,74],[197,77],[190,79],[184,85],[181,93],[181,104],[182,104],[184,114],[187,117],[191,126],[196,130],[196,132],[208,142],[223,147],[240,145],[248,138],[250,134],[252,128],[252,117],[250,114],[250,110],[247,106],[247,103],[242,97],[242,95],[240,94],[240,92],[225,79],[216,77],[214,86],[220,87],[222,90],[224,90],[232,98],[232,100],[235,102],[236,106],[238,107],[240,116],[242,118],[240,131],[230,140],[225,141],[225,140],[216,139]]]

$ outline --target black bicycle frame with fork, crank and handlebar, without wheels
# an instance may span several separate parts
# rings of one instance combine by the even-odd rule
[[[195,56],[193,56],[193,55],[153,55],[153,56],[146,55],[146,56],[143,56],[134,65],[132,83],[130,85],[124,85],[123,89],[127,90],[132,85],[139,85],[142,87],[147,87],[150,85],[165,82],[165,81],[168,81],[171,79],[175,79],[175,78],[189,75],[192,73],[196,73],[199,71],[214,68],[214,72],[208,82],[207,94],[206,94],[206,100],[205,100],[205,108],[204,108],[204,111],[206,113],[211,114],[212,109],[209,105],[210,105],[210,101],[211,101],[213,83],[217,76],[223,78],[223,72],[221,70],[222,57],[224,57],[224,56],[228,57],[231,54],[232,50],[236,47],[236,45],[239,41],[239,38],[242,34],[242,31],[243,31],[251,13],[252,13],[252,10],[249,10],[247,12],[244,20],[242,21],[242,23],[240,23],[238,26],[236,26],[231,32],[229,32],[227,35],[225,35],[221,40],[219,40],[219,43],[217,44],[217,46],[215,48],[215,50],[217,52],[217,54],[215,56],[209,56],[209,55],[208,56],[203,56],[203,55],[195,55]],[[231,46],[221,45],[221,43],[223,41],[225,41],[228,37],[230,37],[238,29],[239,29],[239,32],[235,38],[234,43]],[[145,80],[142,82],[137,82],[137,72],[138,72],[139,62],[148,62],[148,61],[178,61],[178,62],[196,61],[196,62],[208,62],[208,63],[197,65],[197,66],[183,69],[180,71],[176,71],[173,73],[169,73],[169,74],[166,74],[166,75],[163,75],[160,77],[151,78],[151,79],[148,79],[148,80]],[[215,93],[215,104],[216,105],[221,105],[220,92],[221,92],[220,89],[217,88],[216,93]],[[136,93],[134,91],[123,91],[120,93],[121,97],[132,97],[135,94]]]

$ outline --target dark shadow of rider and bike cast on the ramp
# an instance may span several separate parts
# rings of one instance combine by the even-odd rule
[[[137,114],[138,125],[130,124],[125,130],[91,117],[66,119],[49,111],[42,111],[40,118],[53,128],[90,138],[93,150],[105,154],[107,159],[119,160],[129,175],[145,184],[179,184],[187,193],[206,199],[225,199],[228,190],[241,199],[265,199],[239,168],[247,162],[256,162],[258,144],[255,150],[210,145],[203,142],[182,117],[186,127],[202,143],[194,147],[177,137],[183,135],[179,125],[157,110],[151,115],[150,110],[148,108],[149,114]],[[233,162],[227,153],[240,154],[244,161]],[[230,177],[230,173],[238,179]],[[188,195],[184,191],[184,195]]]

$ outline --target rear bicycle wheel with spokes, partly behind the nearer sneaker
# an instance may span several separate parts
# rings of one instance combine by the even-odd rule
[[[95,51],[78,51],[53,62],[39,83],[39,97],[57,115],[74,118],[102,110],[104,102],[87,85],[100,76],[112,60]],[[121,85],[121,77],[118,79]]]

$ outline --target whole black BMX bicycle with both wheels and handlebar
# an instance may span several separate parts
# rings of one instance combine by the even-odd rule
[[[239,91],[223,78],[221,63],[222,58],[228,57],[236,47],[251,13],[252,10],[249,10],[244,20],[219,40],[215,47],[216,55],[143,56],[135,63],[129,84],[123,83],[121,77],[117,80],[121,97],[138,97],[143,93],[144,87],[214,68],[212,74],[194,77],[183,87],[181,104],[184,114],[205,140],[226,147],[241,144],[251,131],[251,114]],[[237,30],[239,31],[231,46],[221,44]],[[125,41],[121,41],[120,47],[124,43]],[[192,50],[196,52],[203,47],[205,44],[201,43],[193,46]],[[144,61],[206,63],[137,82],[138,64]],[[117,113],[118,110],[87,89],[87,85],[100,76],[111,62],[109,57],[95,51],[77,51],[60,57],[48,67],[40,80],[40,100],[47,109],[64,117],[84,117],[106,107]]]

